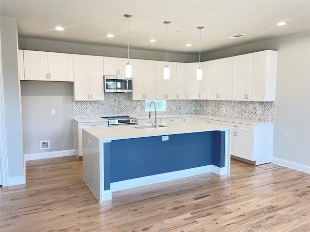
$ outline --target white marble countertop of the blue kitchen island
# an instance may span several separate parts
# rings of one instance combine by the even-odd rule
[[[136,129],[135,126],[120,126],[120,127],[97,127],[84,128],[84,131],[91,133],[94,137],[110,142],[119,139],[131,139],[141,137],[162,136],[171,134],[196,133],[204,131],[223,131],[230,128],[221,127],[218,125],[207,124],[204,122],[170,122],[160,123],[167,127]]]

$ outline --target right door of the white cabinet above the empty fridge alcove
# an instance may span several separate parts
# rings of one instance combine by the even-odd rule
[[[73,81],[70,73],[71,54],[48,52],[48,80],[50,81]]]

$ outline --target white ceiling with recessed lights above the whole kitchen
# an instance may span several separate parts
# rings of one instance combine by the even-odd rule
[[[183,54],[199,51],[199,26],[202,53],[310,30],[310,0],[0,0],[0,14],[16,17],[19,37],[124,48],[132,14],[130,48],[151,51],[166,51],[171,21],[168,52]]]

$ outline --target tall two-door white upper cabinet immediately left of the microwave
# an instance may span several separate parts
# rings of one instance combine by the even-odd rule
[[[103,57],[74,55],[74,100],[104,100]]]

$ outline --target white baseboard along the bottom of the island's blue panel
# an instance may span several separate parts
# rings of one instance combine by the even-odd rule
[[[186,170],[180,170],[170,173],[163,173],[163,174],[156,174],[156,175],[149,175],[140,178],[130,179],[130,180],[123,180],[118,182],[110,183],[110,190],[112,192],[123,190],[126,188],[135,188],[143,185],[150,185],[155,184],[163,181],[175,180],[179,178],[189,177],[193,175],[200,175],[205,173],[212,172],[213,165],[207,165],[197,168],[190,168]]]

